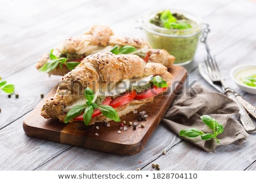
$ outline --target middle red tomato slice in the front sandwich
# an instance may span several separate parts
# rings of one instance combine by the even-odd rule
[[[111,102],[110,102],[110,106],[112,107],[120,107],[123,106],[129,102],[131,102],[131,100],[133,100],[133,98],[136,96],[136,91],[135,90],[131,90],[130,92],[127,92],[126,94],[122,95],[122,96],[118,96],[115,97]]]

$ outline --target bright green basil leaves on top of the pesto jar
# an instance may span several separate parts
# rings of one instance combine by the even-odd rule
[[[191,24],[187,22],[177,22],[177,19],[171,14],[170,10],[164,10],[160,15],[160,20],[167,29],[187,29],[191,28]]]

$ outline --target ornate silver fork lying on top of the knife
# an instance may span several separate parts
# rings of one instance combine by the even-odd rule
[[[207,44],[205,44],[205,46],[207,46]],[[229,98],[231,98],[233,101],[236,102],[237,106],[239,107],[238,114],[240,115],[240,121],[243,127],[245,128],[245,130],[247,131],[247,133],[255,133],[256,126],[254,125],[253,121],[251,121],[249,114],[247,114],[247,111],[242,106],[241,102],[237,100],[234,90],[230,89],[229,86],[226,85],[224,78],[221,76],[220,69],[218,68],[216,60],[214,59],[214,57],[212,57],[212,55],[210,55],[209,48],[207,52],[208,52],[208,56],[207,56],[207,59],[205,59],[204,61],[205,61],[205,65],[207,67],[207,71],[210,79],[214,84],[220,84],[226,96],[228,96]]]

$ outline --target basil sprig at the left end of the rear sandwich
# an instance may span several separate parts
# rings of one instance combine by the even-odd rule
[[[63,67],[63,65],[66,65],[69,70],[74,69],[77,65],[80,64],[80,62],[76,61],[67,61],[68,59],[66,57],[57,57],[53,55],[53,49],[51,49],[51,52],[49,53],[49,60],[46,62],[46,64],[43,65],[39,69],[40,72],[50,72],[53,71],[53,69],[57,68],[59,65],[60,68]]]

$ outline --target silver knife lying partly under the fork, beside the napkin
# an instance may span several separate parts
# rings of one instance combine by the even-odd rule
[[[224,90],[221,88],[221,86],[218,86],[216,84],[213,84],[212,80],[210,80],[209,76],[204,72],[204,70],[206,68],[204,68],[204,66],[199,63],[198,65],[198,69],[199,72],[201,74],[201,76],[210,84],[213,86],[213,88],[215,88],[216,90],[218,90],[221,93],[224,93]],[[240,101],[241,105],[246,109],[246,111],[250,114],[250,116],[252,118],[254,118],[256,120],[256,107],[251,105],[248,101],[246,101],[244,98],[242,98],[242,96],[238,93],[234,93],[234,95],[236,96],[237,100]]]

